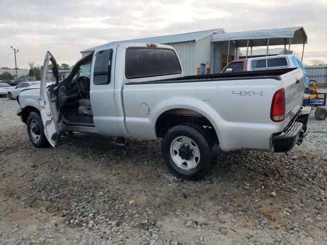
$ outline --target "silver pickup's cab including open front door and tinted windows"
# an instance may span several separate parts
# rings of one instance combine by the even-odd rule
[[[48,52],[43,67],[49,65],[56,67],[57,63]],[[46,137],[53,146],[63,129],[129,137],[123,106],[124,84],[184,76],[178,56],[170,46],[141,43],[101,48],[79,60],[63,81],[58,81],[57,72],[53,69],[54,85],[49,88],[41,85],[40,98]],[[49,114],[52,118],[46,116]]]

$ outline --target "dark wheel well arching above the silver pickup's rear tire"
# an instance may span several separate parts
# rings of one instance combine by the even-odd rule
[[[178,124],[193,124],[201,126],[204,129],[211,131],[215,141],[219,144],[215,128],[205,116],[196,111],[182,108],[165,111],[158,117],[155,124],[157,137],[164,137],[171,127]]]

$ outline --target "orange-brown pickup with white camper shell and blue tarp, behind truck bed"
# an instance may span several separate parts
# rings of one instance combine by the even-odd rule
[[[249,70],[269,70],[279,68],[301,68],[303,81],[309,87],[309,80],[306,68],[296,55],[274,55],[247,59],[233,60],[229,62],[222,72],[237,72]]]

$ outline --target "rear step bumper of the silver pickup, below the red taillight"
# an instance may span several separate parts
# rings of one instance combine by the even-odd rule
[[[288,152],[295,144],[301,144],[308,133],[308,119],[311,107],[301,107],[286,128],[272,136],[274,152]]]

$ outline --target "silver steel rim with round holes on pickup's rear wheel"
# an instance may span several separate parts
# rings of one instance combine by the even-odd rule
[[[200,162],[200,150],[194,140],[186,136],[175,138],[170,145],[173,162],[183,170],[192,170]]]

